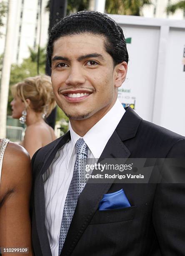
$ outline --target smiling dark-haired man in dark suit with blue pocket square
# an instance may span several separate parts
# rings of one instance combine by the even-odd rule
[[[80,154],[86,160],[185,156],[183,136],[117,100],[128,64],[122,29],[101,13],[72,14],[52,28],[47,54],[70,131],[32,158],[35,255],[185,255],[184,184],[77,183]],[[120,191],[125,206],[113,199],[100,209],[103,198],[117,200]]]

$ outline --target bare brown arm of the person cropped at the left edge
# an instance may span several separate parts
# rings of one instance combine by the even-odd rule
[[[0,247],[29,248],[31,246],[31,225],[29,215],[32,175],[30,156],[25,149],[9,143],[2,162],[0,182]],[[23,255],[5,253],[2,255]]]

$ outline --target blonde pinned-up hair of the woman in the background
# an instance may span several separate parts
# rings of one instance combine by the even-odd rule
[[[25,102],[26,108],[29,107],[26,99],[29,99],[31,102],[30,108],[37,113],[45,113],[46,116],[51,113],[56,105],[51,78],[47,75],[28,77],[23,82],[14,84],[11,87],[11,92],[13,97],[17,96]]]

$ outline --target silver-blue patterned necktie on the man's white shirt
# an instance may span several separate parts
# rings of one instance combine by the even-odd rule
[[[65,199],[65,204],[64,204],[62,223],[60,228],[60,238],[59,238],[59,251],[58,251],[59,255],[62,251],[62,247],[64,245],[65,238],[67,236],[67,232],[69,230],[71,220],[75,212],[78,197],[82,192],[83,188],[85,187],[85,183],[82,183],[80,181],[80,174],[81,174],[80,161],[83,160],[82,161],[83,164],[86,163],[87,156],[88,156],[88,147],[85,141],[83,140],[83,138],[78,139],[75,146],[76,146],[77,156],[76,156],[72,180],[71,180],[70,187],[68,189],[67,197]]]

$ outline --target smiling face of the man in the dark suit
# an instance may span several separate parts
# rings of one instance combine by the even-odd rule
[[[114,67],[102,36],[80,34],[57,39],[52,54],[52,87],[71,120],[100,120],[114,105],[127,64]]]

